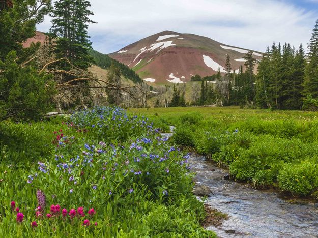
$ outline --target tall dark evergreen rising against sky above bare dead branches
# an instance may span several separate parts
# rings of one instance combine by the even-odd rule
[[[87,69],[93,58],[89,54],[92,43],[89,40],[88,24],[93,12],[87,0],[60,0],[54,4],[52,29],[57,37],[55,54],[57,58],[66,57],[78,68]],[[66,65],[62,65],[66,67]]]

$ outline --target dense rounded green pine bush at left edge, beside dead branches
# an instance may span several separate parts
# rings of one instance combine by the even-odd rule
[[[55,93],[50,75],[19,66],[14,51],[0,61],[0,71],[0,120],[36,119],[49,111]]]

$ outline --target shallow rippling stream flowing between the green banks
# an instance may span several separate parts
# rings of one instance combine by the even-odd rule
[[[282,198],[279,191],[227,181],[228,171],[204,156],[191,155],[188,161],[196,173],[196,186],[211,191],[205,203],[229,215],[221,226],[207,227],[218,237],[318,237],[318,204],[314,201]]]

